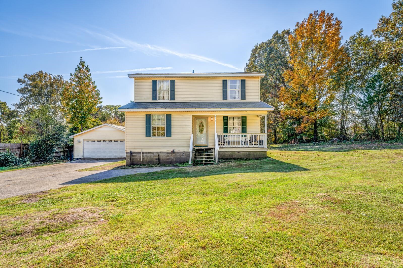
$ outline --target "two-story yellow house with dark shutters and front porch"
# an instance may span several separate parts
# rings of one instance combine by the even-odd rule
[[[125,113],[126,164],[266,157],[262,73],[137,73]],[[264,129],[261,120],[264,118]]]

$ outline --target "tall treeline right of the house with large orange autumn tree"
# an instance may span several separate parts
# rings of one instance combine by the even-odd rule
[[[342,44],[341,21],[314,12],[252,49],[245,72],[264,72],[272,143],[402,139],[403,0]]]

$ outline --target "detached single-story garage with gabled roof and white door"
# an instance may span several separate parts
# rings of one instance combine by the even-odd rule
[[[74,159],[126,157],[123,126],[102,124],[70,138],[74,138]]]

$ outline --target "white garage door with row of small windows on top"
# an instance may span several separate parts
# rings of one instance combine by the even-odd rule
[[[124,158],[125,140],[84,140],[84,157]]]

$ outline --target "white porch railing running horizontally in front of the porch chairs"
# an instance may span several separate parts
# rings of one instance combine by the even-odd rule
[[[267,147],[266,133],[217,133],[218,147]]]

